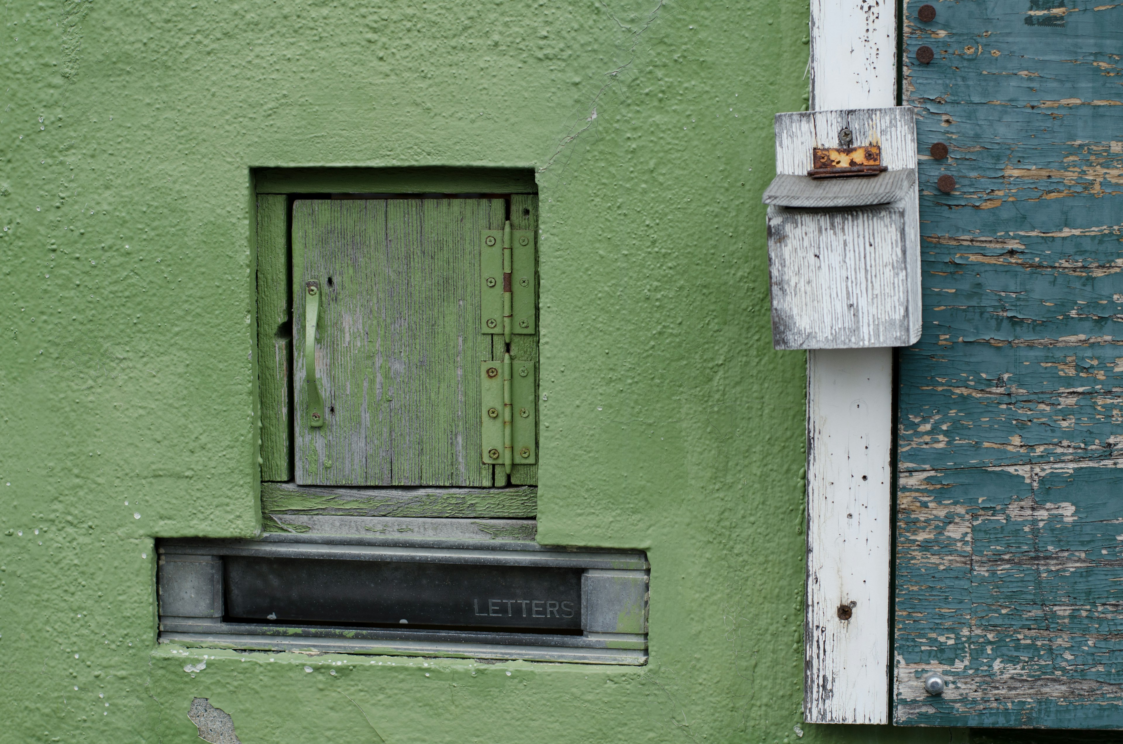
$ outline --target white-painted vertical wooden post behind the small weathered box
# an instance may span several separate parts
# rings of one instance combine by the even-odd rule
[[[893,8],[812,0],[813,110],[896,103]],[[807,352],[807,723],[889,719],[892,400],[892,350]]]

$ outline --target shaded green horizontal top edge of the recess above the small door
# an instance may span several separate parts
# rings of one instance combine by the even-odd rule
[[[533,169],[262,167],[257,193],[536,193]],[[502,225],[500,226],[502,228]]]

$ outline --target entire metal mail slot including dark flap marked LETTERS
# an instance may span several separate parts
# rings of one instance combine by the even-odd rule
[[[161,642],[647,663],[642,553],[298,541],[162,541]]]

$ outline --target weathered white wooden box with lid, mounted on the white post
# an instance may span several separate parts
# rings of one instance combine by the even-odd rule
[[[840,140],[849,130],[850,142]],[[846,135],[842,134],[842,137]],[[877,175],[813,179],[814,148],[871,145]],[[776,115],[768,270],[776,348],[906,346],[920,338],[916,124],[909,107]]]

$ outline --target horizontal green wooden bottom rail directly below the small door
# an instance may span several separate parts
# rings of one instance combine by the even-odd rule
[[[532,519],[538,489],[331,488],[262,483],[265,514]]]

